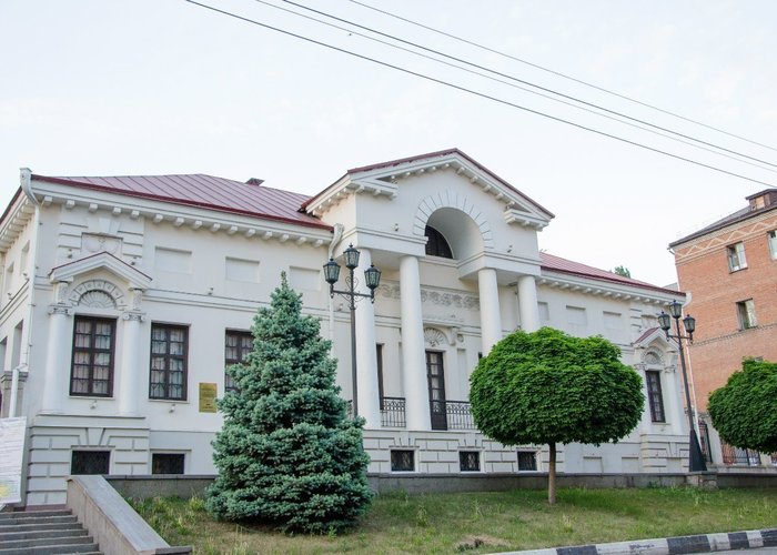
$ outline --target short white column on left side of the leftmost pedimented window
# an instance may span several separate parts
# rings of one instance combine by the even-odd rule
[[[43,383],[42,411],[62,412],[62,400],[68,396],[70,387],[70,330],[71,310],[65,304],[49,306],[49,342],[46,352],[46,380]]]

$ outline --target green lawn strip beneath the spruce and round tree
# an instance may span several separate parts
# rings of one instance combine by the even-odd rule
[[[340,535],[284,535],[218,522],[202,498],[143,500],[135,509],[171,545],[195,554],[493,553],[777,526],[777,490],[559,490],[382,494],[359,527]]]

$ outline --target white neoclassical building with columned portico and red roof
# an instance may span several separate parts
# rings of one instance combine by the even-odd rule
[[[350,311],[322,273],[349,244],[359,274],[383,272],[355,312],[370,472],[543,470],[539,447],[478,433],[467,403],[478,356],[542,325],[615,342],[648,398],[618,444],[559,446],[561,471],[680,471],[676,353],[655,315],[682,295],[542,253],[552,218],[455,149],[349,170],[313,198],[255,179],[22,170],[0,221],[0,391],[2,416],[27,417],[23,503],[62,503],[71,473],[214,473],[213,401],[281,271],[353,398]]]

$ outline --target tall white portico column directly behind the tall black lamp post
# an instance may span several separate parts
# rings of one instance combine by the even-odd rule
[[[372,264],[372,255],[366,249],[360,249],[356,278],[364,283],[364,271]],[[360,293],[369,293],[366,286],[359,287]],[[364,427],[381,427],[381,405],[377,387],[377,355],[375,351],[375,306],[369,299],[362,297],[356,304],[356,398],[359,415],[366,418]]]

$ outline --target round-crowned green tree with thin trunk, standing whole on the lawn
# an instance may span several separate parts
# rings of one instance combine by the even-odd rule
[[[548,445],[551,504],[557,443],[617,442],[639,423],[642,379],[619,356],[604,337],[543,327],[506,336],[472,374],[472,413],[484,434],[505,445]]]

